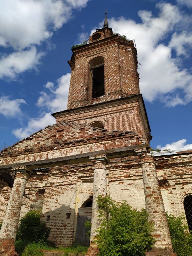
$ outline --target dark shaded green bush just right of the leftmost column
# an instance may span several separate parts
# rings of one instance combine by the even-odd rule
[[[25,217],[21,218],[17,231],[17,240],[27,242],[38,242],[46,240],[50,230],[44,222],[41,222],[41,213],[38,211],[28,212]]]

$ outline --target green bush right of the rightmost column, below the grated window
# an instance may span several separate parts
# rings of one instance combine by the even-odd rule
[[[184,216],[167,215],[173,251],[177,256],[192,256],[192,234],[184,224]]]

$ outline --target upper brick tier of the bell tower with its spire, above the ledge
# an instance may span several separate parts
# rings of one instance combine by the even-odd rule
[[[103,28],[72,51],[68,109],[140,93],[134,43],[113,33],[106,12]]]

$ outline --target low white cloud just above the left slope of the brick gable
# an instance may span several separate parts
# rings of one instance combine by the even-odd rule
[[[12,131],[12,133],[19,139],[28,137],[34,132],[45,128],[47,125],[55,123],[55,118],[51,113],[42,113],[38,118],[31,118],[25,128],[19,128]]]

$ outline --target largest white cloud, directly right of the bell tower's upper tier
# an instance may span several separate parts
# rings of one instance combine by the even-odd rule
[[[141,23],[119,17],[109,19],[109,26],[114,32],[135,39],[138,62],[142,64],[142,67],[138,66],[138,72],[144,99],[149,102],[159,99],[168,107],[185,105],[192,100],[192,74],[182,67],[180,57],[173,57],[172,49],[178,56],[187,57],[192,36],[185,31],[174,33],[175,27],[184,19],[184,14],[180,13],[177,6],[160,3],[157,8],[157,17],[143,10],[138,12]],[[169,44],[163,43],[170,36]]]

